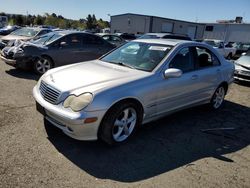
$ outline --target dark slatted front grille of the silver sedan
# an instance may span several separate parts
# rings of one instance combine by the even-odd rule
[[[45,82],[41,81],[40,84],[40,93],[44,100],[48,101],[51,104],[56,104],[57,100],[60,96],[60,91],[53,88],[52,86],[46,84]]]

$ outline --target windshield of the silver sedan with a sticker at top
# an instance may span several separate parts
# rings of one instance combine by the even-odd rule
[[[152,71],[173,46],[143,42],[129,42],[101,60],[134,69]]]

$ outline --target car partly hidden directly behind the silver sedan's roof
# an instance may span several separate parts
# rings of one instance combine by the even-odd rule
[[[179,39],[179,40],[189,40],[192,39],[187,35],[173,34],[173,33],[146,33],[139,37],[140,39]]]

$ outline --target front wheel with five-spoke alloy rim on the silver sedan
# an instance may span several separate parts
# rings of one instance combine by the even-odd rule
[[[141,124],[142,113],[131,102],[113,106],[104,116],[100,138],[109,145],[126,142]]]

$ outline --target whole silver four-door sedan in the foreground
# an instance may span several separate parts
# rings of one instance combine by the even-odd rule
[[[177,110],[218,109],[233,73],[234,64],[209,45],[140,39],[99,60],[49,70],[33,96],[45,123],[75,139],[116,144]]]

